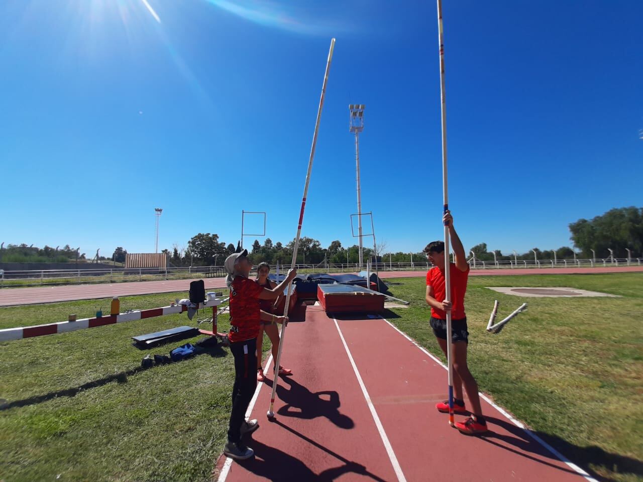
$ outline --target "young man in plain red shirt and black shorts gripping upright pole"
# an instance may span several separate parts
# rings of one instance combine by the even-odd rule
[[[433,264],[433,268],[426,273],[426,303],[431,307],[431,328],[437,338],[442,352],[447,354],[446,312],[451,311],[451,342],[453,349],[453,411],[466,413],[462,385],[467,391],[471,402],[471,415],[464,422],[457,422],[455,427],[462,433],[474,435],[487,431],[487,422],[482,415],[478,384],[471,375],[467,366],[467,344],[469,332],[467,331],[467,316],[464,312],[464,294],[467,290],[469,277],[469,263],[464,254],[464,247],[453,228],[453,217],[450,211],[444,214],[444,224],[449,227],[449,238],[453,246],[455,263],[449,263],[449,281],[451,282],[451,299],[447,300],[444,287],[444,242],[433,241],[426,245],[424,253]],[[448,400],[435,406],[440,412],[449,412]]]

